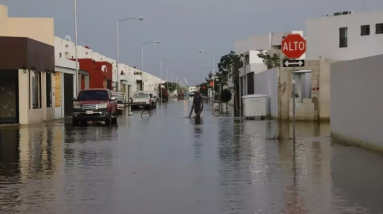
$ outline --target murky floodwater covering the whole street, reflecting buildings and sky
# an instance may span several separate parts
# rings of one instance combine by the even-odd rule
[[[191,103],[118,126],[0,127],[1,214],[380,214],[383,155],[329,124],[186,118]],[[229,109],[230,111],[230,109]]]

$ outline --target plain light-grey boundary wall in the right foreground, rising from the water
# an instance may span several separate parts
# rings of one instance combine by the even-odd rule
[[[331,65],[332,136],[383,151],[383,55]]]

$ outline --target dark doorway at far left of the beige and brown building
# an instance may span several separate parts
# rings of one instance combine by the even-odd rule
[[[0,70],[0,123],[18,123],[17,70]]]

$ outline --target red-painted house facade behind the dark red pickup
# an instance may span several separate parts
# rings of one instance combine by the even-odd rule
[[[75,60],[75,59],[72,59]],[[110,89],[112,85],[112,64],[108,62],[97,62],[93,59],[78,59],[80,70],[89,73],[89,88]],[[85,80],[81,80],[81,88],[84,89]]]

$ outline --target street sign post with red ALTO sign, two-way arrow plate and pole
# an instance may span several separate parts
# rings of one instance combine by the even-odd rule
[[[295,66],[304,66],[304,60],[299,59],[306,52],[306,40],[300,34],[288,34],[282,40],[282,52],[288,59],[284,67],[292,65],[292,137],[295,141]]]

